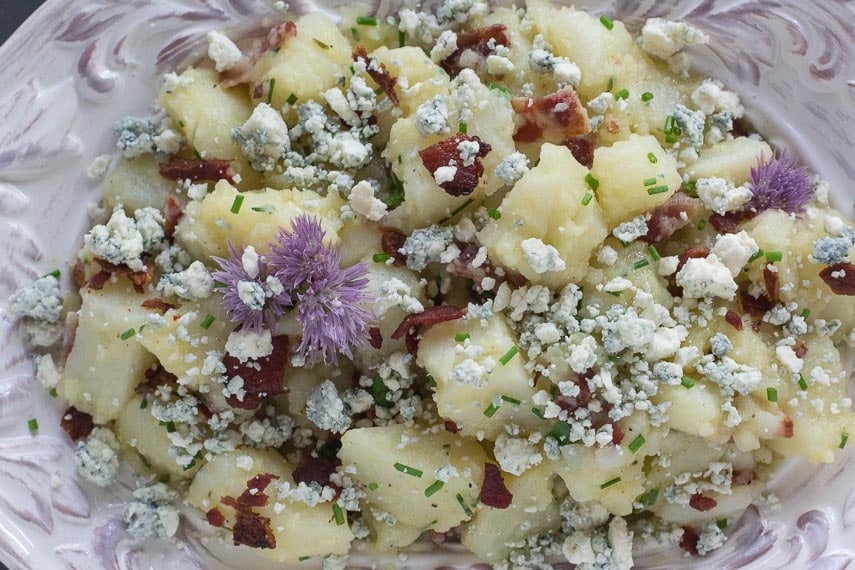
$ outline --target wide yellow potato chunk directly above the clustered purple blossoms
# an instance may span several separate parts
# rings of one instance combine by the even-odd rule
[[[200,259],[228,257],[228,240],[239,247],[252,245],[259,252],[266,252],[280,228],[290,228],[291,219],[300,214],[318,217],[327,239],[338,241],[337,232],[341,229],[338,210],[344,203],[338,193],[321,197],[311,190],[244,192],[240,212],[234,214],[231,210],[237,195],[234,186],[220,180],[201,202],[191,202],[178,224],[177,242]],[[272,211],[268,211],[271,207]]]

